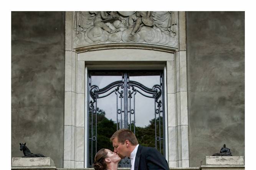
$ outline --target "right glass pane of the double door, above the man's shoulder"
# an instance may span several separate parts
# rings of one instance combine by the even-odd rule
[[[160,85],[160,74],[159,75],[129,75],[129,80],[139,82],[141,85],[152,90],[154,85]],[[162,110],[158,106],[158,103],[155,103],[155,98],[152,94],[144,92],[142,89],[135,87],[137,93],[134,95],[134,102],[131,102],[131,108],[135,106],[135,135],[138,139],[139,144],[155,147],[156,137],[160,137],[160,131],[163,131],[163,119],[162,114],[160,115],[160,131],[159,131],[159,110]],[[140,93],[139,93],[140,92]],[[142,94],[146,95],[142,95]],[[162,95],[159,100],[162,100]],[[158,100],[158,101],[159,101]],[[155,115],[155,111],[157,114]],[[132,122],[134,122],[134,116],[131,114]],[[155,121],[156,118],[156,121]],[[131,125],[131,130],[133,129],[133,124]],[[161,137],[163,132],[161,132]],[[157,138],[159,139],[159,138]],[[161,141],[163,142],[163,141]],[[160,142],[157,142],[157,150],[160,150]],[[161,146],[163,153],[163,146]]]

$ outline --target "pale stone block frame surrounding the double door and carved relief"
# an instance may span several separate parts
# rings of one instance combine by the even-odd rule
[[[179,49],[129,43],[74,49],[72,23],[73,14],[68,11],[65,23],[63,168],[86,167],[87,68],[109,69],[113,66],[116,69],[165,68],[166,158],[169,167],[189,167],[185,12],[179,12]]]

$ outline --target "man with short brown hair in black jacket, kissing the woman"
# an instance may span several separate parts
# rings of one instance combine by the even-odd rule
[[[131,170],[169,170],[164,156],[152,147],[139,145],[129,129],[119,129],[110,138],[114,152],[122,159],[130,157]]]

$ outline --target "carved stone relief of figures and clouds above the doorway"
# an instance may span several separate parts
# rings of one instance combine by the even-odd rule
[[[76,11],[74,47],[109,43],[178,46],[175,11]]]

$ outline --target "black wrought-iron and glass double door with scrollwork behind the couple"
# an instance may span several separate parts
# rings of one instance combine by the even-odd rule
[[[101,80],[102,77],[105,81],[113,82],[104,85],[102,83],[104,82],[102,81],[103,79]],[[96,81],[97,78],[99,79],[98,82],[101,83]],[[159,82],[152,85],[152,88],[146,86],[146,84],[155,83],[157,78],[159,78]],[[92,167],[94,155],[99,149],[107,148],[113,150],[109,138],[120,128],[129,128],[136,135],[139,144],[155,147],[165,156],[164,81],[162,70],[143,70],[139,72],[95,70],[89,71],[88,79],[88,91],[90,94],[88,95],[87,128],[89,134],[88,167]],[[97,83],[103,84],[103,86],[99,87]],[[103,98],[105,98],[105,101],[100,103]],[[146,100],[148,100],[148,104],[143,103]],[[140,110],[135,110],[135,104],[137,108],[139,105]],[[115,113],[111,110],[106,110],[109,108],[112,110],[116,108]],[[112,120],[113,115],[116,115],[115,120]],[[145,122],[149,122],[149,124],[146,126]],[[122,159],[119,162],[119,167],[130,167],[130,159]]]

